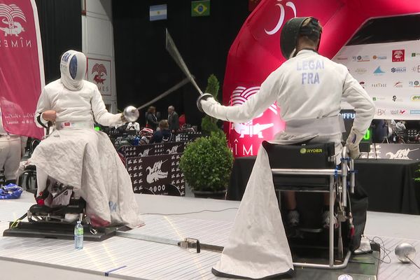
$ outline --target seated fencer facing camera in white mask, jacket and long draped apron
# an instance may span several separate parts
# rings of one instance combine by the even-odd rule
[[[38,195],[48,176],[73,186],[87,202],[92,225],[141,225],[132,182],[109,137],[94,130],[124,123],[109,113],[97,85],[83,80],[86,57],[69,50],[60,60],[61,78],[45,85],[36,107],[36,123],[55,130],[39,144],[29,164],[36,165]]]

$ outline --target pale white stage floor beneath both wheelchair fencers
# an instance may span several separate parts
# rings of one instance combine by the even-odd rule
[[[144,228],[126,232],[126,237],[85,241],[83,251],[75,251],[73,241],[1,237],[0,279],[221,279],[211,274],[220,253],[197,254],[136,238],[141,235],[159,235],[171,240],[193,237],[203,243],[223,246],[239,202],[157,195],[136,195],[136,199],[144,213]],[[8,221],[22,216],[32,203],[33,195],[29,193],[24,193],[20,200],[0,201],[1,232],[8,228]],[[380,265],[378,279],[420,279],[420,269],[398,262],[393,253],[402,241],[413,244],[419,251],[419,232],[420,216],[368,212],[365,234],[370,238],[381,237],[384,246],[391,250],[391,259],[384,259],[390,263]],[[414,261],[420,263],[419,254]]]

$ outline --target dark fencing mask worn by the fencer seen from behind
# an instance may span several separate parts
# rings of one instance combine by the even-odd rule
[[[311,19],[307,25],[302,27],[303,22]],[[321,25],[316,18],[292,18],[286,22],[280,35],[280,47],[283,57],[289,59],[294,57],[299,36],[307,36],[311,41],[321,41]],[[319,47],[319,43],[318,43]],[[318,48],[317,48],[318,50]]]

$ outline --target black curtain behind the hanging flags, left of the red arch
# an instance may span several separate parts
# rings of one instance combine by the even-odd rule
[[[151,22],[149,6],[167,3],[167,20]],[[247,0],[211,0],[210,16],[191,17],[191,1],[113,0],[113,36],[119,109],[141,106],[185,78],[165,50],[165,28],[197,84],[204,91],[214,73],[223,85],[230,45],[249,15]],[[195,105],[197,92],[190,84],[156,102],[167,118],[175,106],[187,123],[200,125],[202,113]],[[221,91],[219,92],[221,97]],[[141,111],[144,123],[145,110]]]

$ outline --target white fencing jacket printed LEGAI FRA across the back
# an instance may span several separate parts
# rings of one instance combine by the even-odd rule
[[[314,50],[300,50],[295,57],[284,62],[262,83],[258,94],[241,106],[221,106],[214,99],[207,99],[201,104],[209,116],[232,123],[246,123],[277,102],[286,130],[277,134],[274,140],[293,144],[326,137],[339,144],[336,153],[340,153],[342,126],[337,117],[342,100],[356,111],[346,145],[353,158],[357,158],[358,142],[374,116],[372,98],[346,66],[332,62]],[[295,123],[300,127],[295,127]],[[320,127],[323,123],[327,126]],[[354,137],[356,141],[353,141]]]

